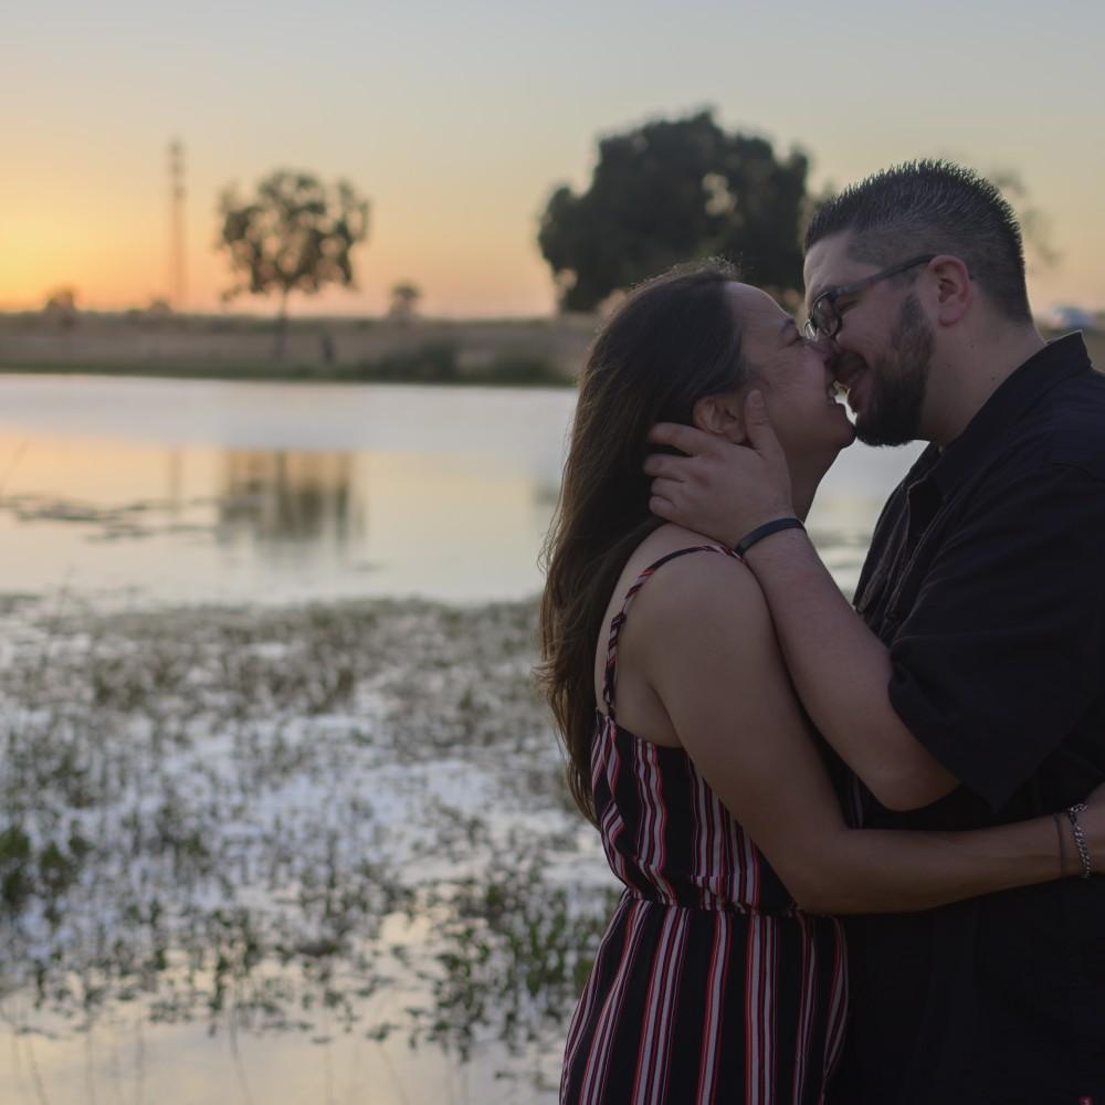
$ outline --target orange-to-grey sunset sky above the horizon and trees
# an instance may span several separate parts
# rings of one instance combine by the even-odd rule
[[[800,145],[817,187],[917,156],[1015,170],[1061,255],[1035,308],[1105,307],[1099,0],[23,0],[3,22],[3,308],[166,295],[179,137],[190,309],[230,283],[220,189],[286,166],[372,202],[360,290],[293,309],[377,313],[410,280],[428,314],[547,313],[551,189],[586,186],[599,135],[703,106]]]

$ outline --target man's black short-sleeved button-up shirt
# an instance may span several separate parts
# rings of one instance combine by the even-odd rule
[[[961,782],[862,823],[975,829],[1051,813],[1105,779],[1105,376],[1052,343],[887,502],[856,609],[890,697]],[[1056,839],[1056,866],[1057,866]],[[1105,878],[849,924],[851,1103],[1105,1105]]]

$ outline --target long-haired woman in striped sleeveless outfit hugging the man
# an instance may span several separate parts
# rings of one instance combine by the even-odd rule
[[[649,513],[649,428],[744,439],[760,390],[804,517],[853,431],[822,350],[711,263],[634,292],[580,382],[541,606],[572,792],[625,892],[568,1036],[564,1103],[823,1099],[846,1004],[830,914],[1081,872],[1066,818],[850,830],[739,558]],[[653,576],[657,578],[653,580]],[[1081,815],[1105,854],[1105,806]]]

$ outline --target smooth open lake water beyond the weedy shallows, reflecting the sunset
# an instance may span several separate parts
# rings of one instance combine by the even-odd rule
[[[98,603],[536,593],[575,396],[0,378],[3,590]],[[810,527],[849,587],[918,449],[854,445]]]

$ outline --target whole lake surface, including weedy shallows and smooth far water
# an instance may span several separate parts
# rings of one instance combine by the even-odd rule
[[[517,949],[556,959],[557,894],[597,933],[612,880],[532,607],[486,603],[540,589],[573,399],[0,377],[0,828],[90,849],[0,934],[0,1101],[551,1105],[575,982]],[[845,589],[917,451],[827,477]],[[376,597],[469,609],[297,606]],[[472,1061],[427,1039],[483,1006]]]

